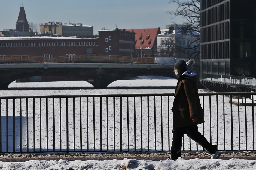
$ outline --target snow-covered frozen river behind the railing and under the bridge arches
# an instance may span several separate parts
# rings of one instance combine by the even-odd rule
[[[84,81],[13,82],[9,85],[11,90],[2,90],[1,96],[165,94],[174,93],[176,83],[177,80],[125,80],[109,86],[168,86],[170,89],[94,90],[83,89],[91,87]],[[33,87],[37,90],[14,90]],[[53,89],[56,87],[77,89]],[[228,96],[200,96],[205,113],[200,132],[213,144],[218,144],[219,150],[254,148],[254,123],[251,121],[254,109],[232,106],[228,99]],[[70,151],[81,151],[81,148],[82,151],[169,150],[172,142],[173,96],[123,97],[122,100],[120,97],[69,98],[68,102],[65,97],[61,101],[59,98],[6,101],[1,101],[3,152],[7,147],[9,152],[13,148],[15,151],[20,148],[22,151],[65,151],[67,146]],[[185,136],[184,150],[203,149],[194,142],[190,148],[189,143]]]

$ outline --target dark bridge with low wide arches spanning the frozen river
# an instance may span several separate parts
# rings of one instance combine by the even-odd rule
[[[142,75],[155,75],[176,78],[173,65],[158,64],[97,64],[97,63],[38,63],[0,64],[0,89],[18,79],[55,75],[84,80],[95,89],[106,89],[108,84]]]

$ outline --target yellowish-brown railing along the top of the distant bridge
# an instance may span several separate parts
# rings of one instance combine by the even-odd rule
[[[155,57],[127,57],[114,55],[66,55],[66,56],[30,56],[0,55],[0,63],[142,63],[156,64]]]

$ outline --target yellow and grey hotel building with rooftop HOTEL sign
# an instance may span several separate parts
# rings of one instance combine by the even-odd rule
[[[81,23],[62,24],[62,22],[40,23],[39,29],[41,34],[49,33],[58,36],[93,36],[93,26],[83,25]]]

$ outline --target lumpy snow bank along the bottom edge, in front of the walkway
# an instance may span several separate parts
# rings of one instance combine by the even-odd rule
[[[62,169],[134,169],[134,170],[174,170],[174,169],[256,169],[255,160],[243,160],[232,158],[230,160],[208,160],[178,158],[174,160],[88,160],[88,161],[68,161],[68,160],[31,160],[26,162],[0,162],[0,169],[29,169],[29,170],[62,170]]]

